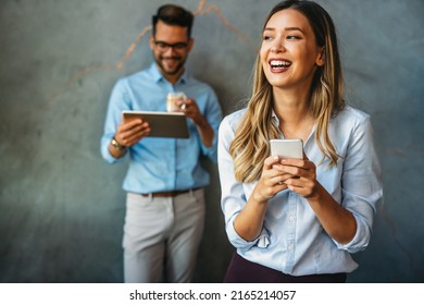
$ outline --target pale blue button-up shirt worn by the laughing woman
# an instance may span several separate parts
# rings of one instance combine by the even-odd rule
[[[222,187],[222,209],[229,242],[239,255],[250,261],[287,274],[351,272],[358,267],[350,253],[364,249],[372,234],[376,205],[383,196],[381,167],[374,147],[370,117],[346,107],[329,123],[329,137],[339,158],[328,168],[328,160],[320,163],[323,154],[314,138],[314,131],[303,150],[316,166],[317,181],[357,220],[357,232],[351,242],[339,244],[317,221],[308,200],[285,190],[269,200],[260,236],[248,242],[234,229],[234,219],[245,207],[255,183],[239,183],[234,175],[229,145],[246,110],[224,118],[219,137],[219,171]],[[276,120],[276,117],[274,117]],[[278,122],[276,122],[278,124]]]

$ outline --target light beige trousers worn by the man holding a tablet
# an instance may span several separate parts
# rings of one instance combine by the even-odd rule
[[[203,233],[203,190],[175,197],[127,194],[124,281],[190,282]]]

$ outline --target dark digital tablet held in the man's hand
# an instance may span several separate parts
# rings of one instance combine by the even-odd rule
[[[186,115],[182,112],[135,111],[122,112],[125,120],[141,118],[150,124],[150,137],[188,138]]]

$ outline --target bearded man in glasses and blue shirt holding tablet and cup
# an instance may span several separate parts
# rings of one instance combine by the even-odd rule
[[[166,4],[152,21],[154,63],[114,86],[101,154],[110,163],[129,156],[123,182],[125,282],[190,282],[203,232],[203,187],[209,184],[200,158],[216,162],[222,111],[213,89],[185,69],[194,46],[194,15]],[[188,118],[189,138],[146,137],[148,122],[123,120],[123,110],[166,111],[166,96],[177,91],[187,96],[174,106]]]

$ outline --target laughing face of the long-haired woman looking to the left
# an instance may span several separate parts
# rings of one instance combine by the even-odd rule
[[[294,9],[276,12],[263,30],[262,69],[272,86],[309,89],[316,65],[323,65],[323,48],[308,19]]]

